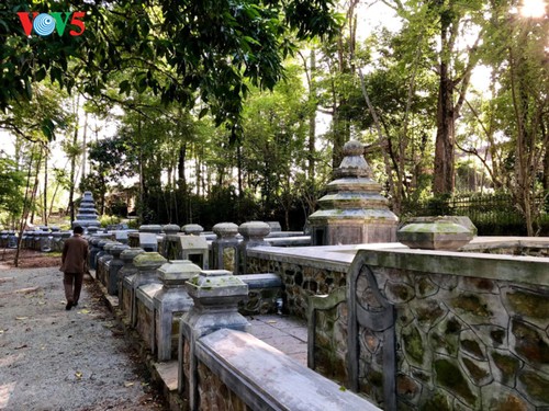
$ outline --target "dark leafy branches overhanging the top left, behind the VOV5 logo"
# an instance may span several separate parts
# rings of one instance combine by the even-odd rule
[[[85,31],[24,34],[16,12],[85,12]],[[29,18],[31,19],[31,18]],[[0,109],[32,100],[32,84],[47,76],[72,90],[76,79],[90,95],[103,94],[112,76],[120,92],[152,90],[163,102],[194,106],[198,96],[217,124],[236,124],[246,81],[272,88],[283,76],[282,60],[298,39],[335,34],[332,0],[135,0],[41,1],[32,10],[15,0],[0,9]]]

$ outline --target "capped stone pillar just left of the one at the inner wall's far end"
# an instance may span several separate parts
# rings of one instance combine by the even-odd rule
[[[220,222],[213,226],[217,236],[212,241],[212,269],[238,272],[238,226],[234,222]]]

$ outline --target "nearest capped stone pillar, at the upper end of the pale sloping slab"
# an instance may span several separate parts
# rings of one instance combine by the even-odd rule
[[[189,398],[189,409],[197,411],[198,359],[195,343],[220,329],[247,331],[249,323],[238,313],[238,301],[248,295],[248,286],[225,270],[203,271],[187,282],[194,305],[183,315],[179,328],[178,390]]]

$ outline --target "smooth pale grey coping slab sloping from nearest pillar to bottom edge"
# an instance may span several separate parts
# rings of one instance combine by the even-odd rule
[[[245,332],[223,329],[203,336],[197,355],[253,409],[380,410]]]

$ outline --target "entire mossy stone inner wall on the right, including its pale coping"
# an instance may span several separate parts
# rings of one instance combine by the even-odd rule
[[[548,243],[258,248],[248,264],[280,273],[307,319],[309,366],[383,409],[545,410]]]

